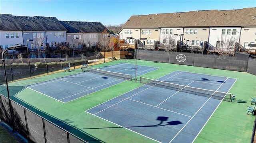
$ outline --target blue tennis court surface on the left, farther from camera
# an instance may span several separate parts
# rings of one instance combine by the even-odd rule
[[[137,65],[137,76],[157,69],[155,67]],[[127,63],[106,66],[101,70],[135,75],[135,65]],[[26,87],[66,103],[124,81],[125,79],[101,76],[93,72],[81,72]]]

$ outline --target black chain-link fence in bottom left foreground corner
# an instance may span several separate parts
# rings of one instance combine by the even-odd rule
[[[27,108],[11,101],[13,121],[10,116],[8,98],[0,94],[0,119],[11,125],[31,143],[88,143],[72,133],[58,127]]]

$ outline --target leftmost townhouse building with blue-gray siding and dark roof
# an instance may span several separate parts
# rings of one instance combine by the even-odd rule
[[[1,45],[3,43],[4,48],[10,47],[14,43],[15,45],[25,45],[29,49],[30,58],[50,57],[53,47],[66,42],[67,30],[57,18],[12,16],[10,14],[1,14],[0,18]],[[2,36],[3,34],[6,35],[5,38]],[[10,38],[8,38],[8,34]],[[38,45],[38,43],[41,44]],[[40,47],[37,48],[38,46]],[[39,49],[41,50],[38,51]],[[17,55],[12,56],[15,58]]]

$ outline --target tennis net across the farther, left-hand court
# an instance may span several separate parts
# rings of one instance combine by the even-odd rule
[[[89,71],[94,74],[99,74],[99,75],[104,75],[104,76],[109,76],[109,77],[132,81],[132,75],[130,75],[130,74],[122,74],[122,73],[118,73],[118,72],[104,71],[104,70],[94,69],[94,68],[85,67],[85,66],[82,66],[82,71]]]

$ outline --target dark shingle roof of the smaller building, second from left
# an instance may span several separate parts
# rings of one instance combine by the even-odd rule
[[[109,32],[100,22],[60,21],[60,23],[68,30],[67,33],[101,33],[104,29]]]

